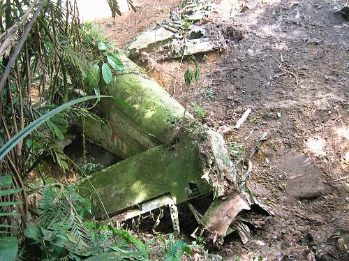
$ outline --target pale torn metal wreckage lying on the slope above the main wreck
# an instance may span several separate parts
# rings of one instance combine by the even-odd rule
[[[205,0],[172,11],[170,19],[140,34],[128,49],[133,54],[157,52],[163,59],[224,50],[223,33],[210,19],[214,13]]]

